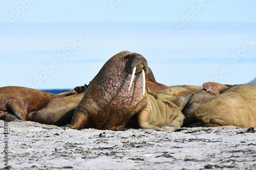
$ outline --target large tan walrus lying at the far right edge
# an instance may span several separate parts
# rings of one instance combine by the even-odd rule
[[[218,84],[214,84],[214,87],[216,85],[218,86]],[[223,90],[222,87],[210,89],[216,92]],[[195,109],[188,118],[187,125],[189,127],[238,126],[255,128],[255,103],[256,83],[236,85]]]

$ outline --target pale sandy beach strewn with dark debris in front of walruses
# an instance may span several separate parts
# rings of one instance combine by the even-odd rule
[[[9,122],[5,136],[0,126],[1,169],[256,169],[256,133],[238,127],[78,131]]]

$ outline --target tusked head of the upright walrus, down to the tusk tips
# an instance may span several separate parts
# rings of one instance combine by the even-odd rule
[[[118,87],[119,90],[121,88],[123,92],[140,88],[139,85],[142,84],[142,88],[140,89],[142,89],[142,94],[144,95],[145,73],[147,73],[148,70],[147,61],[142,55],[123,51],[109,59],[95,78],[96,83],[99,83],[99,81],[103,82],[101,86],[105,86],[108,89]],[[140,83],[137,82],[139,77],[142,78]],[[127,83],[129,83],[128,88],[126,88]],[[93,84],[93,81],[90,84]],[[133,92],[133,90],[131,91]]]

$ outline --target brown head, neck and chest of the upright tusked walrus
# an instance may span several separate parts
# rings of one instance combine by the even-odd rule
[[[147,106],[146,59],[138,53],[120,52],[110,58],[90,82],[78,104],[70,128],[121,130]]]

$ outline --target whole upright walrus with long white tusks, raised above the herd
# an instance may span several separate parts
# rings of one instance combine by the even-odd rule
[[[122,130],[132,118],[140,128],[181,127],[179,108],[157,94],[146,92],[146,59],[138,53],[120,52],[110,58],[90,82],[75,109],[71,129]],[[160,118],[160,115],[163,115]]]

